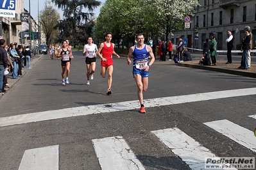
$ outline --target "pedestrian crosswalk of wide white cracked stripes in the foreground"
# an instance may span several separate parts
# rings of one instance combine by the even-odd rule
[[[256,118],[255,115],[249,117]],[[226,140],[231,139],[235,143],[240,144],[241,147],[252,150],[254,153],[256,152],[256,137],[254,136],[253,130],[248,130],[229,120],[209,121],[203,123],[203,125],[206,128],[210,127],[216,130],[218,134],[225,135],[228,137]],[[180,158],[193,170],[205,169],[206,157],[219,157],[218,154],[213,153],[198,143],[198,141],[190,137],[189,134],[182,132],[178,127],[152,130],[151,135],[155,135],[176,157]],[[136,157],[136,148],[130,148],[129,143],[122,136],[92,139],[92,147],[94,148],[101,169],[147,169],[147,166],[144,166]],[[26,150],[22,157],[19,170],[58,169],[57,155],[58,145]],[[227,155],[226,157],[234,156],[236,155]],[[42,164],[47,164],[51,168],[40,168],[43,167]]]

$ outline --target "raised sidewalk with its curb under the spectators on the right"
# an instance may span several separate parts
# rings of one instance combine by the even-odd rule
[[[220,54],[216,57],[217,63],[216,66],[203,66],[199,65],[199,61],[202,54],[191,53],[192,61],[185,61],[183,63],[178,63],[178,66],[185,66],[190,68],[198,68],[202,70],[209,70],[213,72],[222,72],[229,73],[233,75],[242,75],[245,77],[253,77],[256,78],[256,62],[254,61],[255,56],[251,56],[251,67],[248,70],[239,70],[241,56],[240,55],[232,55],[232,64],[226,65],[226,55]]]

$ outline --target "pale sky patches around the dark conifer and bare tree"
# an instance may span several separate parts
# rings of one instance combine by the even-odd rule
[[[105,0],[98,0],[101,1],[101,6],[103,3],[105,3]],[[29,0],[24,0],[24,8],[30,12],[31,10],[31,16],[33,17],[33,19],[37,19],[38,18],[38,11],[40,13],[41,10],[44,10],[44,4],[45,4],[46,0],[30,0],[30,6],[29,6]],[[39,3],[39,5],[38,5]],[[62,19],[62,10],[58,9],[53,3],[51,3],[51,5],[56,8],[57,12],[60,13],[60,19]],[[99,6],[98,8],[96,8],[94,10],[94,13],[96,15],[96,17],[99,15],[99,10],[101,8],[101,6]],[[39,7],[39,10],[38,10]]]

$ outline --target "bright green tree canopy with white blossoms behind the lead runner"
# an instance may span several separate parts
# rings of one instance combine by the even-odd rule
[[[192,15],[197,4],[197,0],[107,0],[96,20],[94,35],[111,31],[113,39],[127,37],[132,41],[137,33],[169,35],[182,28],[183,18]]]

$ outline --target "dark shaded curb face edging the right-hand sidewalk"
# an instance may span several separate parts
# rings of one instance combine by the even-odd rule
[[[209,70],[212,72],[221,72],[221,73],[229,73],[233,75],[241,75],[244,77],[252,77],[256,78],[256,73],[253,72],[245,72],[243,70],[232,70],[228,68],[216,68],[212,66],[202,66],[202,65],[194,65],[194,64],[187,64],[187,63],[178,63],[178,66],[184,66],[184,67],[189,67],[189,68],[197,68],[201,70]]]

